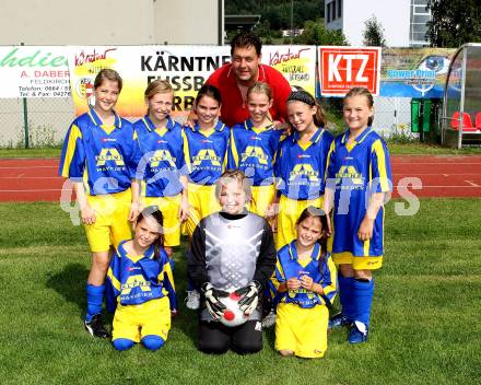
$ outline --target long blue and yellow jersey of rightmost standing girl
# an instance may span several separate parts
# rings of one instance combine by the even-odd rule
[[[384,208],[379,209],[369,241],[360,241],[357,230],[366,214],[368,197],[391,190],[389,153],[385,141],[369,127],[352,145],[348,145],[348,139],[349,131],[332,142],[326,173],[326,187],[335,190],[332,253],[382,256]]]

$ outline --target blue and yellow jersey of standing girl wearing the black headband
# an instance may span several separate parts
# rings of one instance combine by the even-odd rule
[[[274,164],[280,194],[293,200],[317,199],[324,195],[324,174],[332,133],[319,128],[308,142],[294,132],[281,142]]]

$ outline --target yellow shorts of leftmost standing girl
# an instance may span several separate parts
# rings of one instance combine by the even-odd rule
[[[87,196],[89,205],[95,210],[93,224],[85,224],[86,238],[92,253],[108,252],[110,245],[132,237],[128,221],[132,195],[130,188],[108,195]]]

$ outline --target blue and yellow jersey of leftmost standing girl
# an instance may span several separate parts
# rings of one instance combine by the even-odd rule
[[[93,108],[73,120],[63,142],[59,175],[84,183],[87,195],[128,189],[136,176],[139,149],[132,124],[115,114],[106,127]]]

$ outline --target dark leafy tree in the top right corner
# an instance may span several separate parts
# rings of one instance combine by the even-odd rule
[[[481,0],[429,0],[426,36],[433,47],[481,42]]]

